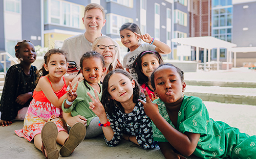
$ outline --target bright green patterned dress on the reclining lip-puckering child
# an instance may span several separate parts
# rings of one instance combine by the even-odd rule
[[[202,158],[256,158],[256,136],[240,133],[222,121],[209,118],[204,102],[193,96],[185,96],[178,113],[177,127],[170,121],[165,103],[154,100],[162,117],[181,133],[201,134],[194,155]],[[168,142],[153,123],[155,141]]]

